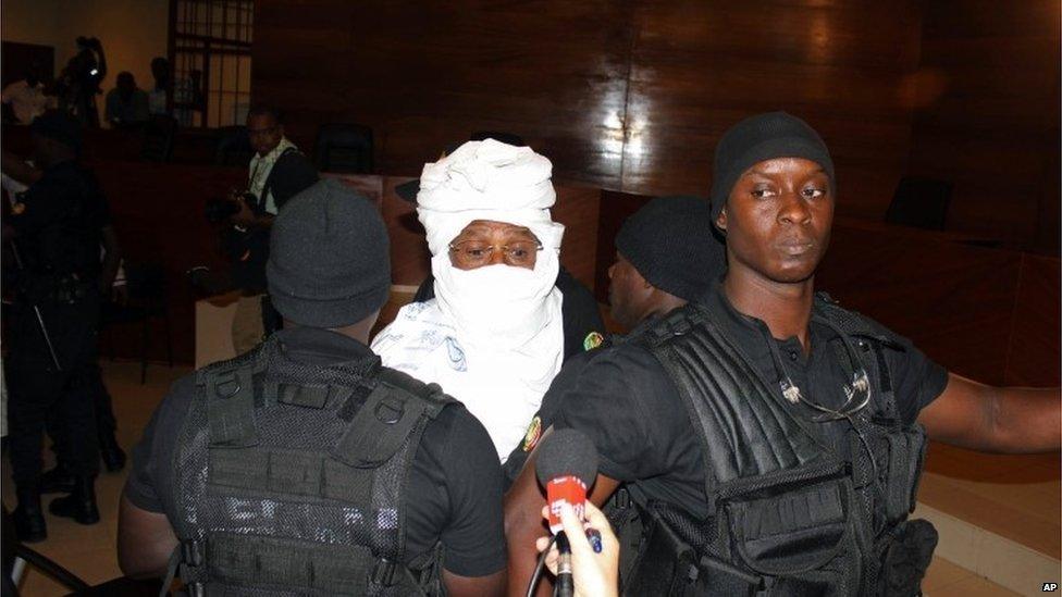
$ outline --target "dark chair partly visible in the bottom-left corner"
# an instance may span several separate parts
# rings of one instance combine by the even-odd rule
[[[88,583],[78,579],[73,572],[59,565],[55,561],[42,556],[35,549],[23,545],[15,536],[14,524],[8,513],[8,508],[2,508],[2,531],[3,543],[2,555],[2,575],[0,588],[3,597],[9,595],[18,596],[17,584],[25,572],[26,567],[33,567],[51,580],[72,590],[72,595],[99,595],[114,597],[151,597],[159,594],[162,587],[161,581],[135,581],[122,576],[108,581],[101,585],[89,586]]]

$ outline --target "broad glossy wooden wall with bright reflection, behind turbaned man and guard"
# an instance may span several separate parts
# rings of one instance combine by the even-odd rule
[[[787,109],[830,140],[844,209],[880,215],[909,150],[919,18],[913,0],[264,0],[254,88],[305,146],[322,122],[369,124],[382,173],[501,129],[558,181],[646,195],[706,194],[723,130]]]

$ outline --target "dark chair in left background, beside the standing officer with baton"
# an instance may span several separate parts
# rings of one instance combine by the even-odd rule
[[[166,358],[173,366],[173,343],[170,334],[170,309],[166,303],[165,270],[158,263],[125,264],[125,284],[128,301],[125,304],[108,302],[103,306],[103,325],[140,324],[140,384],[147,382],[148,348],[151,345],[151,320],[161,319],[165,324]],[[111,346],[111,360],[114,347]]]

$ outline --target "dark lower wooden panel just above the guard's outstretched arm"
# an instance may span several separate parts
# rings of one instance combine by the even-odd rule
[[[947,369],[1002,384],[1022,254],[959,240],[841,220],[816,286]]]

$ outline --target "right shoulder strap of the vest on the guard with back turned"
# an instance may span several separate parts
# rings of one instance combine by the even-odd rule
[[[374,469],[390,460],[411,434],[423,431],[448,405],[457,401],[437,384],[424,384],[387,368],[354,415],[332,456],[359,469]]]

